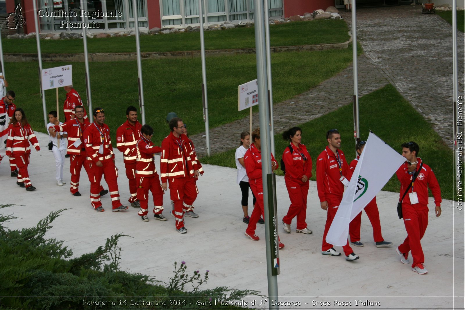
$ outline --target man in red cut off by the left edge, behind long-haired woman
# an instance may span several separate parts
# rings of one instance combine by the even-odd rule
[[[0,100],[0,163],[6,153],[8,124],[14,115],[14,110],[16,110],[16,105],[13,103],[14,97],[14,91],[8,90],[7,95]],[[14,156],[10,157],[10,169],[10,175],[12,177],[17,177],[18,170],[16,170],[16,161]]]

